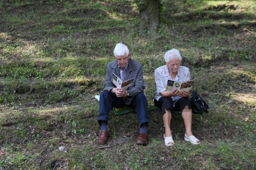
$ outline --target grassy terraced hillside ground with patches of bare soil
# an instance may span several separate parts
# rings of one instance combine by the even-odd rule
[[[255,14],[253,0],[164,1],[160,29],[139,34],[133,0],[0,2],[0,168],[255,169]],[[166,147],[158,111],[148,112],[146,147],[136,145],[134,112],[111,112],[108,148],[96,143],[94,96],[118,42],[143,65],[147,100],[163,54],[180,50],[210,106],[193,115],[201,145],[184,141],[174,114],[175,145]]]

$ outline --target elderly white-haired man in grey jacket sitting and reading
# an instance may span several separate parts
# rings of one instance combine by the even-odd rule
[[[140,134],[137,144],[147,144],[147,99],[143,94],[145,83],[143,80],[142,65],[130,58],[128,48],[118,43],[114,49],[115,60],[107,65],[104,91],[100,94],[98,123],[101,125],[101,133],[97,143],[106,144],[109,136],[108,118],[111,107],[127,105],[136,108],[139,119]],[[113,73],[122,81],[134,78],[131,86],[126,89],[116,87],[112,82]]]

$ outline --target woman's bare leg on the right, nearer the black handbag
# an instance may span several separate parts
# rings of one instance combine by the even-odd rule
[[[191,111],[191,109],[188,108],[188,105],[186,105],[185,108],[183,109],[181,116],[184,120],[186,135],[187,136],[193,135],[193,133],[192,133],[192,111]],[[197,141],[197,143],[199,143],[199,141]]]

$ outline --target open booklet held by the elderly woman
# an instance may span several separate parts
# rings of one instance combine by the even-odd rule
[[[189,80],[186,82],[179,82],[176,80],[170,80],[168,79],[167,81],[167,86],[166,86],[166,91],[172,91],[173,89],[178,89],[180,91],[184,91],[184,90],[191,90],[191,88],[193,87],[195,80]]]

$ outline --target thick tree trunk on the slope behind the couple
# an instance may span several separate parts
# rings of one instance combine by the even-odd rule
[[[159,28],[159,0],[136,0],[140,12],[139,32],[155,32]]]

